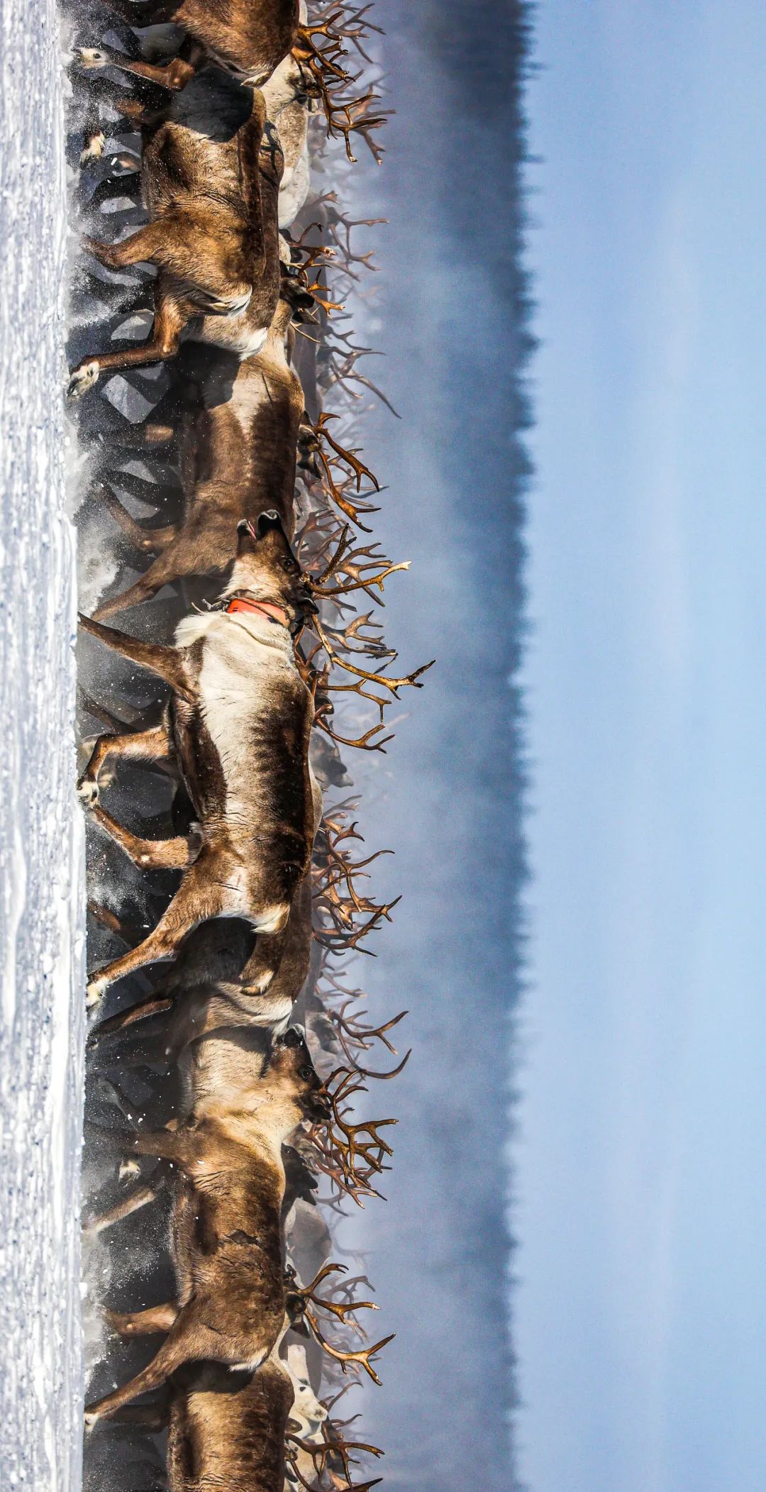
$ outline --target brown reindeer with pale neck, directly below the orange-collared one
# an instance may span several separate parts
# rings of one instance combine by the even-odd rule
[[[262,1065],[262,1064],[261,1064]],[[88,1405],[85,1422],[115,1414],[191,1362],[256,1373],[285,1326],[282,1144],[303,1118],[326,1119],[328,1101],[300,1031],[271,1050],[265,1073],[249,1068],[195,1104],[177,1129],[119,1135],[131,1155],[180,1171],[171,1222],[177,1301],[107,1311],[122,1337],[167,1332],[149,1367]],[[103,1131],[113,1140],[115,1131]]]

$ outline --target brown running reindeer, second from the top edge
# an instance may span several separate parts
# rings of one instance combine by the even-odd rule
[[[283,152],[276,119],[301,95],[294,58],[264,93],[198,78],[159,122],[146,116],[140,186],[149,222],[118,243],[85,239],[107,269],[156,266],[148,342],[83,358],[69,392],[80,398],[103,373],[177,355],[183,337],[255,357],[265,345],[282,285],[279,189]],[[282,245],[282,248],[280,248]]]

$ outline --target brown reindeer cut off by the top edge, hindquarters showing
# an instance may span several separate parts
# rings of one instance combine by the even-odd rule
[[[85,67],[119,67],[161,88],[185,88],[206,61],[240,82],[262,87],[298,37],[298,0],[109,0],[130,25],[173,22],[186,33],[179,57],[164,66],[143,63],[106,48],[76,55]]]

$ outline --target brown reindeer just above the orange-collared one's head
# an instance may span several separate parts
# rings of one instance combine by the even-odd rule
[[[109,492],[109,509],[124,533],[142,552],[155,549],[156,558],[122,595],[98,607],[97,621],[139,606],[186,576],[221,574],[237,524],[256,522],[265,509],[279,513],[292,542],[304,401],[285,354],[291,306],[280,300],[262,352],[235,364],[230,397],[221,398],[215,383],[209,391],[203,383],[197,403],[186,407],[179,437],[185,515],[177,528],[162,527],[155,534]],[[155,428],[152,419],[148,448]]]

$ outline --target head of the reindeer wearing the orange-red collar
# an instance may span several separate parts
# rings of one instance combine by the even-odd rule
[[[298,631],[310,613],[316,613],[308,582],[289,546],[276,509],[261,513],[255,524],[243,519],[237,525],[237,554],[231,579],[224,591],[231,603],[268,603],[282,612],[291,631]]]

